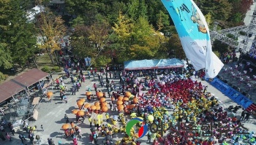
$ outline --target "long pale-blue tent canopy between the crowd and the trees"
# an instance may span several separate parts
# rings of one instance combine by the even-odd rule
[[[124,70],[159,69],[159,68],[181,68],[184,63],[177,59],[161,60],[129,60],[124,62]]]

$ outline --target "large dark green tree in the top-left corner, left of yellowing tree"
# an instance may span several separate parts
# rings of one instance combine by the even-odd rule
[[[22,0],[0,1],[0,41],[5,52],[10,52],[12,63],[23,66],[29,57],[34,56],[35,28],[29,23],[27,10],[29,4]]]

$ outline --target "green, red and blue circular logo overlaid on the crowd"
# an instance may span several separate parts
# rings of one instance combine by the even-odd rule
[[[129,120],[129,122],[127,122],[127,127],[125,128],[125,131],[127,133],[128,136],[131,136],[131,129],[133,128],[134,125],[136,125],[138,122],[143,122],[143,119],[140,118],[132,118]],[[144,123],[144,122],[143,122]],[[138,137],[142,138],[143,136],[146,135],[146,133],[148,132],[148,126],[144,125],[142,127],[140,127],[139,132],[138,132]],[[138,139],[139,139],[138,138]]]

